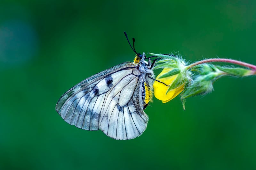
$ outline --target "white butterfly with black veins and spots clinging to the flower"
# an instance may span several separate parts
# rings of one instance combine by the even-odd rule
[[[127,41],[127,34],[124,32]],[[65,92],[56,111],[69,124],[85,130],[101,130],[117,140],[140,136],[147,127],[144,109],[152,98],[154,73],[150,57],[135,58],[101,71]],[[148,62],[145,61],[148,59]]]

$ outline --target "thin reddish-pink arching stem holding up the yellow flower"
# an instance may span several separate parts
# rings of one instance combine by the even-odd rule
[[[192,67],[194,67],[196,65],[199,65],[199,64],[202,64],[202,63],[210,63],[210,62],[233,63],[233,64],[241,65],[241,66],[248,67],[248,68],[251,68],[253,70],[256,70],[256,66],[255,65],[244,63],[244,62],[237,61],[237,60],[225,59],[225,58],[211,58],[211,59],[206,59],[206,60],[198,61],[196,63],[188,65],[186,67],[186,70],[188,70],[188,69],[190,69],[190,68],[192,68]]]

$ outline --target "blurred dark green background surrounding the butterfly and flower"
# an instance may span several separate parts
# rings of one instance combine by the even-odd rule
[[[0,169],[256,169],[256,77],[145,112],[138,138],[116,141],[55,111],[83,79],[140,53],[256,64],[256,1],[0,2]]]

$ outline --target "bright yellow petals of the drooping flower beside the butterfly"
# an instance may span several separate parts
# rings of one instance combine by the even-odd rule
[[[158,81],[155,81],[153,84],[155,97],[158,100],[162,100],[163,103],[166,103],[166,102],[172,100],[174,97],[176,97],[178,94],[180,94],[180,92],[182,92],[184,90],[185,83],[170,90],[166,94],[167,90],[172,85],[172,83],[176,80],[176,78],[178,77],[179,74],[175,74],[175,75],[165,77],[165,78],[159,78],[159,77],[164,75],[165,73],[168,73],[171,70],[172,70],[172,68],[164,68],[162,70],[162,72],[156,77],[156,80],[159,80],[159,81],[165,83],[166,85],[164,85],[163,83],[160,83]],[[167,85],[169,85],[169,86],[167,86]]]

